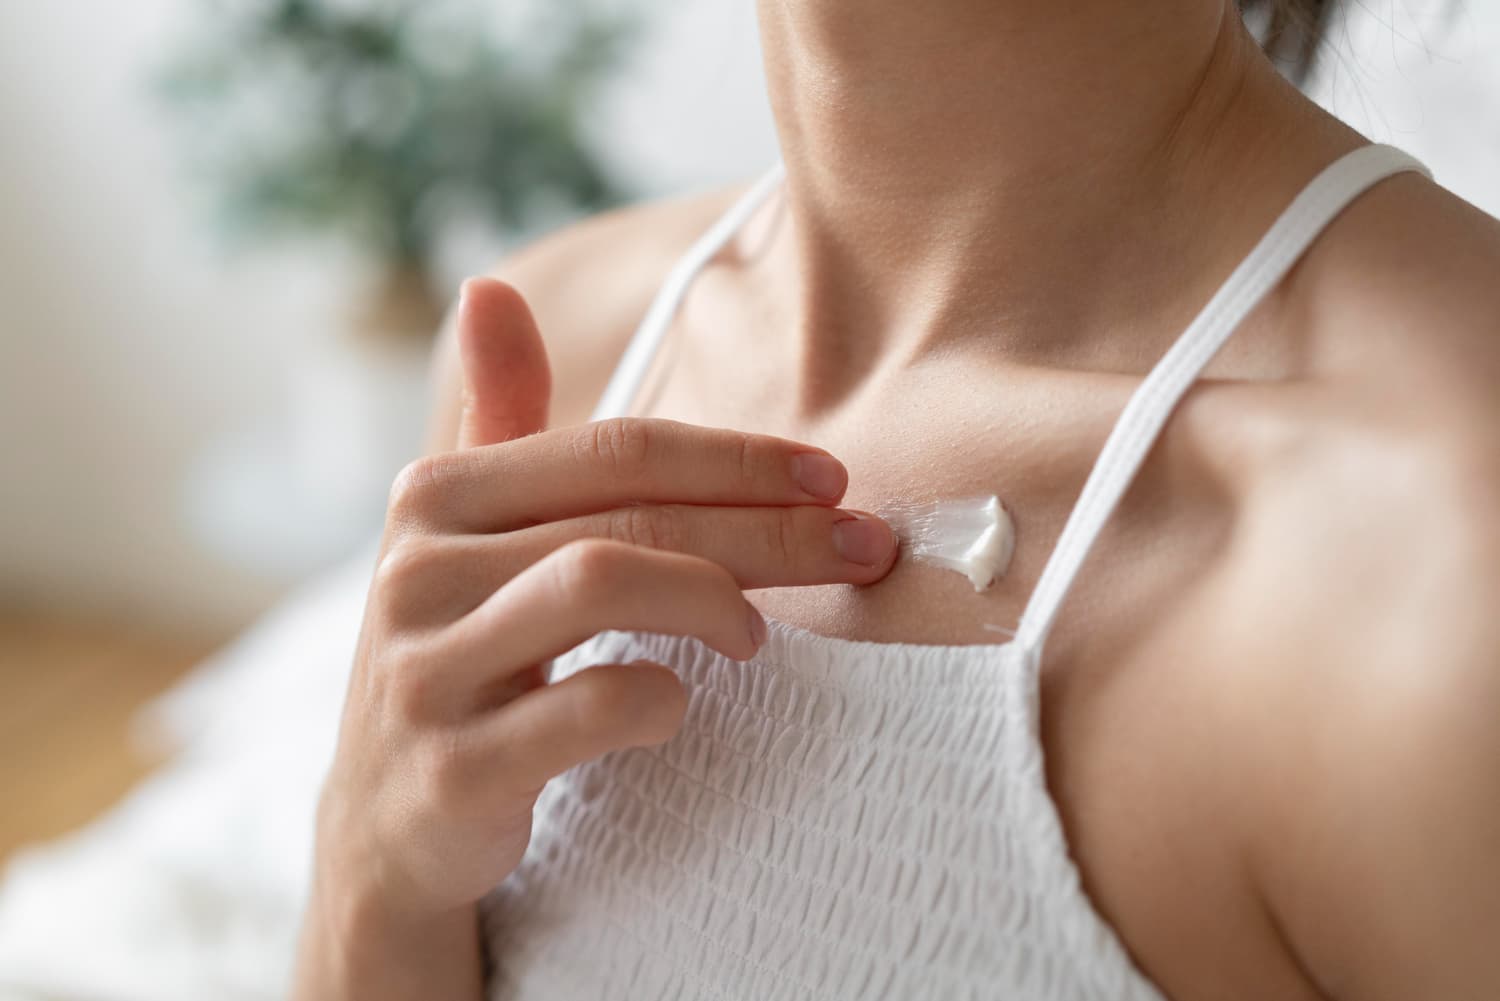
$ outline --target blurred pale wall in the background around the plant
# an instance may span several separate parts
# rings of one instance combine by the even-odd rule
[[[0,602],[12,609],[224,630],[318,561],[276,558],[316,539],[298,542],[300,501],[276,507],[274,461],[234,443],[297,407],[297,374],[320,365],[358,287],[342,251],[316,240],[225,254],[184,198],[148,84],[190,6],[0,5]],[[645,29],[590,123],[622,182],[652,195],[768,162],[753,5],[639,6]],[[1314,92],[1500,212],[1497,5],[1437,6],[1359,8]],[[447,281],[494,251],[459,252]],[[249,510],[219,516],[219,501]]]

